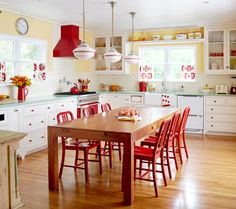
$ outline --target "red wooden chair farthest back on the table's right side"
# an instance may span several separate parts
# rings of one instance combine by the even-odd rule
[[[182,148],[184,149],[186,157],[188,158],[188,149],[187,149],[187,144],[186,144],[185,128],[186,128],[189,112],[190,112],[190,107],[186,107],[183,111],[179,128],[175,132],[175,138],[176,138],[175,152],[179,153],[179,159],[180,159],[181,164],[183,164],[183,157],[182,157],[182,152],[181,152]],[[181,139],[183,141],[183,144],[181,143]]]

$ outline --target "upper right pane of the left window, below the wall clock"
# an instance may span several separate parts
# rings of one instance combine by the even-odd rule
[[[21,43],[20,59],[22,61],[40,61],[40,45],[35,43]]]

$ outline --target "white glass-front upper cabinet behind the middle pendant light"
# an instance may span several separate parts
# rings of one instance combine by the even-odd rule
[[[124,56],[124,36],[114,36],[113,46],[115,49]],[[124,74],[127,73],[125,70],[125,64],[123,57],[119,62],[108,63],[104,59],[104,54],[110,50],[112,45],[112,39],[110,36],[99,36],[95,37],[95,72],[98,74]]]

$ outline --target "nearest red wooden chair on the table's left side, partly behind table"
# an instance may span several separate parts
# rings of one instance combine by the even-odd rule
[[[73,120],[73,114],[70,111],[61,112],[57,114],[57,122],[58,123],[68,123],[70,120]],[[71,139],[71,138],[70,138]],[[70,142],[69,138],[61,137],[62,140],[62,158],[61,158],[61,167],[59,172],[59,178],[62,176],[63,168],[64,167],[72,167],[74,169],[83,169],[85,170],[85,182],[88,183],[89,176],[88,176],[88,161],[91,162],[98,162],[100,168],[100,174],[102,173],[102,160],[101,160],[101,147],[100,142],[97,141],[89,141],[83,140],[80,141],[78,139],[74,139]],[[97,148],[98,153],[89,153],[91,149]],[[65,152],[66,150],[75,150],[75,160],[74,165],[67,165],[65,164]],[[84,158],[78,158],[79,151],[83,151]],[[98,155],[99,158],[97,159],[89,159],[88,155]],[[80,161],[80,163],[78,163]],[[82,166],[84,165],[84,166]]]

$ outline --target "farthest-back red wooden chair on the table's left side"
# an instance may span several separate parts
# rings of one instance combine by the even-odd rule
[[[110,112],[111,105],[109,103],[101,104],[102,112]],[[105,142],[103,148],[103,154],[109,156],[110,158],[110,168],[112,168],[112,150],[117,150],[119,152],[119,159],[121,161],[121,143],[118,142]]]

